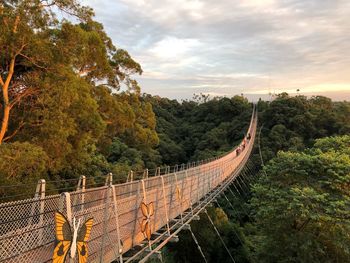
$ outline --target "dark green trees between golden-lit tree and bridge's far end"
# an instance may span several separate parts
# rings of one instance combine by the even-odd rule
[[[221,155],[238,144],[246,132],[251,105],[240,96],[205,101],[169,100],[144,95],[157,117],[157,150],[173,165]]]

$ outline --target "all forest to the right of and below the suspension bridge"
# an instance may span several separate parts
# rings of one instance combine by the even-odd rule
[[[350,103],[280,94],[258,109],[266,166],[253,156],[251,191],[234,184],[208,209],[235,262],[350,262]],[[232,262],[205,215],[191,225],[208,262]],[[180,240],[167,262],[203,261]]]

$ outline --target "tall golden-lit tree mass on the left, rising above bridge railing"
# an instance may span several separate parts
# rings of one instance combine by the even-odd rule
[[[57,10],[70,19],[58,19]],[[142,73],[141,66],[113,45],[91,9],[75,0],[5,1],[0,33],[0,48],[6,50],[0,54],[0,134],[6,135],[0,144],[28,142],[44,152],[44,168],[29,177],[56,180],[111,171],[124,178],[131,168],[160,164],[152,105],[141,101],[132,78]],[[108,162],[118,140],[126,150]],[[9,171],[13,163],[2,165]]]

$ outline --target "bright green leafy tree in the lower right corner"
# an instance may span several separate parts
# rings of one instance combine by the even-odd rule
[[[251,200],[259,262],[349,262],[350,137],[280,152]]]

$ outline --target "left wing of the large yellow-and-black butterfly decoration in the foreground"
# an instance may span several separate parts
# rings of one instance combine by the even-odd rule
[[[60,212],[55,212],[56,239],[52,262],[64,263],[72,244],[72,232],[67,218]]]

